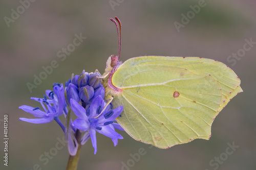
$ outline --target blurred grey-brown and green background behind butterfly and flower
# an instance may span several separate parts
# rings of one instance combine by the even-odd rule
[[[210,140],[163,150],[148,148],[125,132],[114,147],[108,137],[97,134],[97,154],[88,141],[78,169],[256,169],[256,1],[33,1],[0,2],[2,138],[4,114],[9,115],[9,166],[1,160],[0,167],[66,169],[67,146],[54,149],[63,137],[58,125],[22,122],[19,117],[33,116],[18,107],[39,106],[30,97],[42,98],[54,82],[65,83],[72,73],[98,69],[103,74],[108,57],[118,53],[116,27],[109,20],[118,16],[122,61],[145,55],[215,59],[236,72],[244,92],[216,117]],[[74,46],[76,36],[86,38]],[[51,64],[55,68],[50,74],[42,74]],[[44,80],[35,85],[39,76]],[[35,87],[29,90],[28,83]],[[230,155],[228,143],[239,146]],[[3,148],[1,142],[1,157]],[[144,155],[132,158],[140,148]]]

